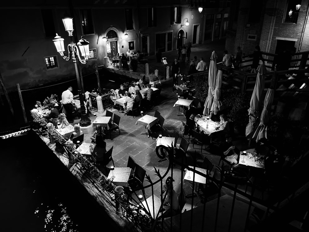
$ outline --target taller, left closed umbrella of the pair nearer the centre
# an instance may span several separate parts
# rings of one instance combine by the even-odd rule
[[[214,101],[214,88],[217,76],[217,54],[213,51],[210,57],[209,72],[208,72],[208,96],[204,104],[203,114],[210,114],[211,105]]]

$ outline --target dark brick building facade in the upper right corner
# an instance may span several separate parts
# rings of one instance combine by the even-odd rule
[[[308,51],[308,4],[308,0],[232,1],[226,48],[233,54],[238,46],[250,54],[256,45],[274,54]]]

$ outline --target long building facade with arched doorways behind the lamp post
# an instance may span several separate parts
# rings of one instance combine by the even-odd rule
[[[197,2],[205,3],[201,13]],[[213,5],[207,5],[208,2]],[[65,46],[70,43],[62,23],[65,15],[74,18],[74,42],[81,36],[90,42],[89,61],[81,65],[85,75],[94,71],[95,64],[105,65],[107,57],[125,54],[128,49],[147,56],[155,54],[157,49],[176,52],[183,44],[224,37],[229,2],[97,0],[86,5],[82,1],[6,2],[0,7],[0,18],[7,22],[1,31],[0,72],[8,91],[16,90],[16,83],[27,89],[75,76],[74,65],[61,58],[52,41],[57,33],[65,39]]]

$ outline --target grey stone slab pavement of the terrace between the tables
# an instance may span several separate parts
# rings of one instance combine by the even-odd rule
[[[145,112],[145,114],[149,114],[153,116],[155,114],[155,110],[158,110],[163,118],[164,121],[164,133],[163,136],[168,136],[168,134],[172,134],[173,130],[176,129],[180,133],[180,126],[182,125],[181,121],[186,121],[184,116],[177,116],[179,115],[178,107],[173,107],[174,103],[177,101],[177,95],[172,93],[171,81],[167,81],[163,83],[163,88],[161,91],[161,96],[158,102],[159,105],[154,106],[149,112]],[[181,109],[180,109],[181,110]],[[117,132],[112,132],[113,140],[109,139],[107,136],[106,144],[108,148],[113,146],[112,157],[115,162],[116,167],[126,167],[128,162],[128,157],[131,156],[133,159],[141,165],[145,170],[146,174],[150,175],[150,178],[153,182],[158,180],[158,176],[155,175],[154,167],[160,170],[160,173],[163,175],[168,167],[168,161],[158,162],[159,157],[157,157],[155,153],[156,147],[156,137],[159,136],[158,132],[154,135],[154,139],[147,137],[147,135],[141,135],[140,133],[145,132],[145,127],[141,125],[136,125],[136,121],[141,118],[141,115],[138,117],[133,118],[132,115],[125,115],[123,113],[118,113],[118,110],[112,110],[115,114],[121,116],[120,119],[120,131],[121,135]],[[95,113],[95,112],[92,112]],[[105,115],[105,113],[103,114]],[[93,114],[91,114],[91,121],[94,120]],[[92,134],[92,133],[91,133]],[[85,134],[84,141],[86,143],[91,142],[91,134]],[[180,143],[182,134],[180,133],[180,138],[178,139],[178,143]],[[187,136],[186,136],[187,138]],[[107,148],[107,149],[108,149]],[[197,153],[200,154],[200,145],[195,145],[195,148],[192,148],[192,143],[188,148],[188,151],[196,150]],[[210,154],[207,150],[203,149],[203,155],[207,156],[214,165],[218,165],[219,158],[218,156]],[[99,170],[102,173],[106,174],[105,168],[98,166]],[[109,169],[108,169],[109,171]],[[164,178],[171,176],[171,170],[169,170],[169,174]],[[173,179],[174,182],[174,189],[177,193],[180,193],[180,183],[181,183],[181,170],[179,167],[174,167],[173,169]],[[164,183],[163,182],[163,183]],[[148,185],[148,181],[145,178],[144,186]],[[190,188],[190,183],[184,183],[184,189],[187,193],[192,191]],[[157,183],[154,186],[155,195],[160,195],[160,183]],[[151,195],[151,187],[145,189],[146,196]],[[197,197],[194,198],[194,207],[199,203]],[[187,199],[187,204],[185,208],[191,208],[191,199]]]

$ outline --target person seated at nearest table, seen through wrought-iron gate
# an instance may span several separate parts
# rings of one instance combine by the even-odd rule
[[[163,186],[163,198],[165,196],[165,192],[167,192],[166,198],[163,202],[163,208],[165,209],[165,211],[163,212],[162,216],[159,216],[159,219],[161,217],[164,218],[175,216],[176,214],[180,213],[178,196],[173,188],[173,184],[171,183],[171,181],[173,181],[172,178],[168,177],[165,185]]]

